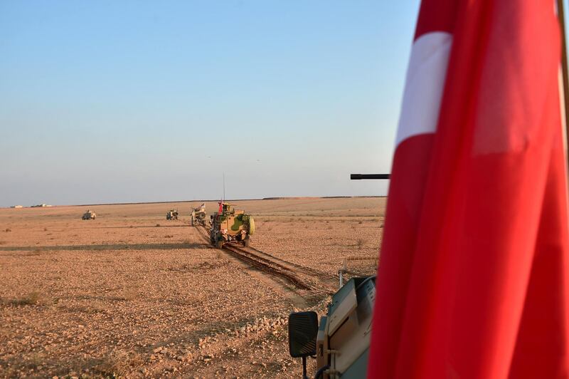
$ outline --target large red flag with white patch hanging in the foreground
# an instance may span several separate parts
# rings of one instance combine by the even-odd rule
[[[559,78],[553,1],[422,1],[369,378],[569,376]]]

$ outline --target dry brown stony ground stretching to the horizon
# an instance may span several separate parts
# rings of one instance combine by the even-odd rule
[[[0,209],[0,377],[299,377],[287,316],[324,313],[345,258],[376,270],[385,198],[235,202],[250,254],[306,289],[209,246],[199,204]]]

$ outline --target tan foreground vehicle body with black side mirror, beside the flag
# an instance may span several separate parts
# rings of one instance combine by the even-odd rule
[[[315,378],[366,377],[375,298],[376,276],[355,277],[332,296],[319,326],[315,312],[290,314],[289,351],[302,357],[304,376],[306,357],[316,355]]]

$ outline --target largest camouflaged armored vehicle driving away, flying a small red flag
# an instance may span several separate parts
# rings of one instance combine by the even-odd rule
[[[245,211],[233,209],[233,205],[219,202],[219,211],[211,215],[210,241],[218,249],[225,242],[249,246],[249,237],[255,233],[255,220]]]

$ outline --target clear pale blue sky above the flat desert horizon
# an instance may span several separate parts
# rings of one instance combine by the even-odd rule
[[[385,195],[419,1],[0,1],[0,207]]]

